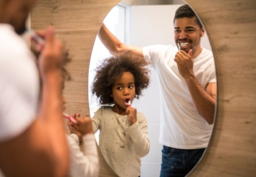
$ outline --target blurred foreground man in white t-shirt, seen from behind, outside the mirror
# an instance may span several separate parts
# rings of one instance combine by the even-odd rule
[[[0,169],[5,176],[67,176],[63,45],[52,27],[40,32],[45,46],[36,63],[18,36],[34,4],[35,0],[0,0]]]

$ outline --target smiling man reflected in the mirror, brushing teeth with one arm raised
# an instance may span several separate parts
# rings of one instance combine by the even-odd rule
[[[175,12],[176,46],[143,48],[121,43],[103,24],[99,38],[111,54],[132,50],[150,62],[161,86],[160,176],[185,176],[208,145],[216,105],[213,54],[202,48],[204,28],[187,5]]]

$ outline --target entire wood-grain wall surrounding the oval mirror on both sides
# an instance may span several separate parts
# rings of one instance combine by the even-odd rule
[[[105,16],[118,2],[39,0],[31,12],[32,29],[53,25],[69,49],[72,62],[67,69],[72,80],[64,89],[69,114],[89,115],[87,82],[92,47]],[[186,2],[206,27],[218,83],[216,121],[210,144],[189,176],[253,176],[256,174],[256,1]],[[102,158],[100,165],[100,176],[114,176]]]

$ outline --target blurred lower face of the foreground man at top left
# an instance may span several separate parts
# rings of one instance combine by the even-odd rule
[[[8,23],[15,28],[17,34],[25,32],[26,20],[35,2],[36,0],[20,0],[9,3],[10,18]]]

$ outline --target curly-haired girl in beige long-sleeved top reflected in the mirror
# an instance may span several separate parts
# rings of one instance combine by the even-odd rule
[[[100,129],[99,148],[118,176],[139,176],[141,157],[150,149],[146,117],[130,104],[149,85],[146,66],[145,60],[127,52],[96,68],[92,94],[101,107],[92,118],[93,129]]]

